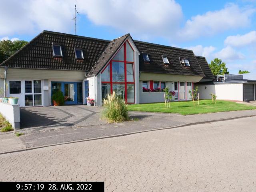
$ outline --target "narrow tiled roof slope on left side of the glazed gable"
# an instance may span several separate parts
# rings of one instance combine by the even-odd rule
[[[117,52],[120,45],[130,36],[130,34],[126,34],[122,37],[112,40],[104,52],[102,52],[100,58],[96,62],[96,64],[92,67],[90,74],[98,74],[100,70],[110,61],[110,58]]]

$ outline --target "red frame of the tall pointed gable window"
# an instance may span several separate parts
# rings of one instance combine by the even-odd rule
[[[132,48],[130,42],[128,40],[126,40],[126,42],[130,45],[130,47]],[[102,70],[101,73],[104,72],[104,70],[108,67],[109,65],[109,70],[110,70],[110,82],[107,81],[102,81],[102,84],[110,84],[110,92],[113,93],[113,84],[124,84],[124,99],[125,102],[127,103],[127,84],[134,84],[134,102],[133,103],[128,103],[128,104],[134,104],[135,103],[135,78],[134,78],[134,49],[133,50],[133,62],[130,61],[126,61],[126,42],[124,42],[124,44],[122,46],[124,46],[124,61],[120,61],[120,60],[111,60],[106,66],[105,68]],[[120,46],[120,48],[118,49],[118,51],[116,52],[116,54],[119,52],[119,50],[122,48],[122,46]],[[113,58],[116,56],[116,54],[113,56]],[[112,62],[122,62],[124,63],[124,82],[113,82],[112,81]],[[132,64],[132,68],[133,68],[133,82],[127,82],[127,72],[126,72],[126,64]]]

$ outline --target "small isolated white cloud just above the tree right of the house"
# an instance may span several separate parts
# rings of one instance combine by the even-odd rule
[[[214,57],[218,57],[223,61],[240,60],[245,58],[244,54],[237,52],[230,46],[227,46],[223,48],[220,52],[215,53]]]

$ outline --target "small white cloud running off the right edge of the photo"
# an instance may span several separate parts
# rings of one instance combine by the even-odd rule
[[[251,31],[244,35],[228,36],[224,43],[226,45],[242,47],[256,43],[256,31]]]

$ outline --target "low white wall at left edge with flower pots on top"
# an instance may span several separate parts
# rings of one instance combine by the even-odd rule
[[[11,105],[8,103],[0,102],[0,113],[10,124],[12,127],[16,129],[20,129],[20,106],[19,105]]]

